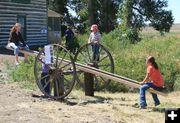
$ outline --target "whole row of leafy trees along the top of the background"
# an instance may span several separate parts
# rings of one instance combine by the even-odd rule
[[[167,10],[167,0],[47,0],[48,7],[64,16],[67,24],[79,25],[82,30],[98,24],[100,31],[109,33],[121,29],[131,33],[131,40],[147,23],[161,34],[169,32],[174,18]],[[71,8],[77,16],[68,11]]]

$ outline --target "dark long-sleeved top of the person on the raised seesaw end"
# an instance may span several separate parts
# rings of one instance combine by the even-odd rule
[[[18,34],[16,32],[11,32],[9,42],[13,42],[15,45],[19,45],[21,42],[24,46],[26,45],[20,32],[18,32]]]

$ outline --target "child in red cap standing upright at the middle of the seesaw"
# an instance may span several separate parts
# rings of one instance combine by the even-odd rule
[[[99,43],[101,40],[101,34],[96,24],[91,26],[91,31],[88,43],[92,43],[93,61],[99,61]]]

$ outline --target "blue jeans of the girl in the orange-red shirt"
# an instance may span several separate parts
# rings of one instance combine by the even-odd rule
[[[150,83],[150,82],[149,82],[149,83],[145,83],[144,85],[142,85],[142,86],[140,87],[140,107],[145,107],[145,106],[147,106],[145,92],[146,92],[146,90],[149,89],[149,88],[153,88],[153,89],[155,89],[155,90],[158,89],[158,87],[156,87],[153,83]],[[152,97],[153,97],[153,100],[154,100],[155,105],[160,104],[160,101],[159,101],[159,99],[158,99],[157,94],[152,93]]]

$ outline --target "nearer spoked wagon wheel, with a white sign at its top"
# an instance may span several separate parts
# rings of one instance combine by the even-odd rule
[[[64,47],[54,44],[51,64],[46,64],[44,50],[35,59],[34,75],[41,92],[53,99],[63,99],[72,90],[76,70],[72,56]]]

